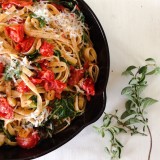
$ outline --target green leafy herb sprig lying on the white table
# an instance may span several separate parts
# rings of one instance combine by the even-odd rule
[[[118,110],[115,114],[105,113],[103,117],[103,125],[101,127],[94,127],[102,137],[106,133],[111,134],[110,146],[106,147],[111,159],[120,159],[123,145],[118,139],[120,133],[130,133],[131,135],[140,134],[150,137],[150,149],[148,153],[148,160],[150,160],[152,151],[152,134],[148,125],[148,118],[146,117],[146,108],[157,100],[150,97],[142,97],[142,92],[148,86],[146,80],[147,76],[160,73],[160,67],[157,66],[156,61],[152,58],[145,60],[146,65],[141,67],[129,66],[122,75],[130,76],[131,79],[128,86],[125,87],[121,94],[127,97],[125,103],[125,111],[118,115]]]

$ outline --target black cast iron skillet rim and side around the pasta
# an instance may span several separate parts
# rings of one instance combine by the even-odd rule
[[[91,39],[98,55],[100,74],[96,83],[96,95],[87,103],[85,113],[76,118],[67,129],[58,133],[52,139],[42,141],[38,146],[30,150],[19,147],[1,147],[0,160],[27,160],[47,154],[67,143],[86,126],[98,120],[105,109],[106,85],[110,66],[107,40],[100,22],[90,7],[83,0],[78,0],[78,2],[80,9],[86,17],[86,22],[90,28]]]

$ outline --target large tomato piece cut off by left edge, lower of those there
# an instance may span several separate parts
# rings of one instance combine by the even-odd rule
[[[0,117],[12,119],[14,115],[13,108],[9,105],[6,98],[0,98]]]

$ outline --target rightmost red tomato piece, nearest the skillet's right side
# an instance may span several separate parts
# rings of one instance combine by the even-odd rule
[[[86,95],[91,95],[94,96],[95,95],[95,88],[94,88],[94,82],[91,78],[86,78],[82,81],[82,83],[80,84],[80,87],[86,91]]]

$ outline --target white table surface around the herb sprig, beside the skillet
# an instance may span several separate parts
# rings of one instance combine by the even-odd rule
[[[129,79],[121,72],[129,65],[141,65],[148,57],[160,64],[160,0],[85,0],[99,18],[109,44],[111,67],[107,86],[106,112],[124,107],[120,95]],[[160,101],[160,76],[149,79],[146,96]],[[153,134],[151,160],[160,160],[160,102],[148,109]],[[109,160],[102,139],[93,129],[102,117],[57,150],[36,160]],[[121,136],[124,150],[121,160],[147,160],[149,137]]]

